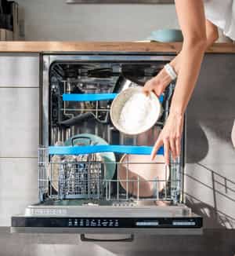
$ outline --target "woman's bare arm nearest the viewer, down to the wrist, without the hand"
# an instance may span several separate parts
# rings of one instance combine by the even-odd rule
[[[196,85],[207,46],[206,20],[202,0],[175,0],[175,8],[183,31],[183,48],[170,112],[183,115]]]

